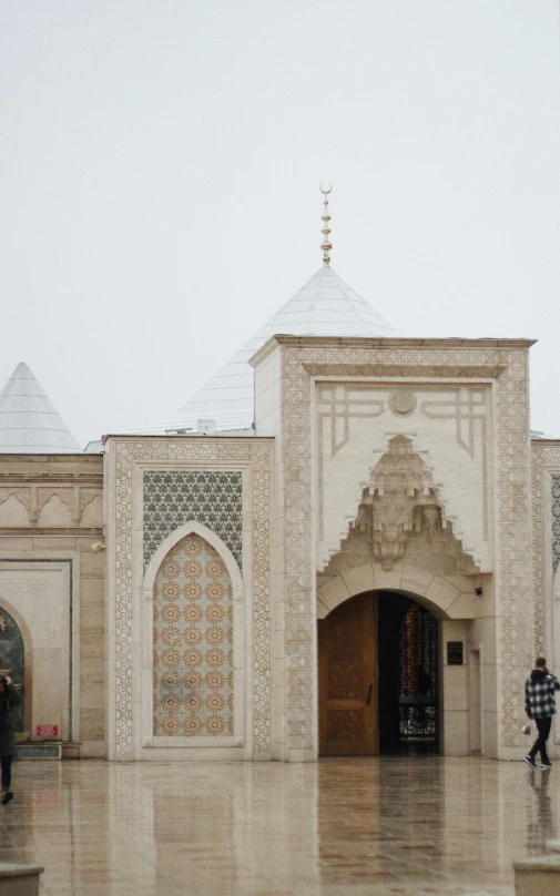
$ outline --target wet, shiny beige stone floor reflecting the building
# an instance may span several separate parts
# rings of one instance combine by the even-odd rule
[[[14,785],[0,858],[48,896],[512,896],[560,834],[560,764],[27,761]]]

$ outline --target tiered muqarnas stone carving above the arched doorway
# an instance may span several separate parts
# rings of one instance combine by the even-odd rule
[[[395,436],[371,471],[354,529],[365,532],[374,557],[389,570],[400,560],[411,532],[434,532],[444,526],[444,509],[431,474],[411,439]]]

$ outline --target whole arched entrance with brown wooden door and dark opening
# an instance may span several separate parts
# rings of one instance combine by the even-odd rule
[[[368,591],[318,620],[319,754],[438,749],[438,623],[411,598]]]

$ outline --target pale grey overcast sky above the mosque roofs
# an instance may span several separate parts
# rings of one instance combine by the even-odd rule
[[[560,435],[558,0],[0,7],[0,386],[174,414],[320,266],[404,336],[527,336]]]

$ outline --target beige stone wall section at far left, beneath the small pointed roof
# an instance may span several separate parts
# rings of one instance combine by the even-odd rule
[[[24,648],[24,733],[55,725],[64,755],[104,756],[103,459],[0,455],[0,613]],[[0,633],[0,665],[2,663]],[[11,664],[11,663],[10,663]]]

